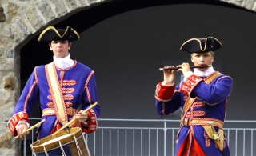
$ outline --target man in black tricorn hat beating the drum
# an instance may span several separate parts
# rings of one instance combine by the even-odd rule
[[[28,115],[38,97],[42,120],[46,119],[38,127],[38,139],[54,134],[73,118],[77,122],[72,123],[72,127],[80,127],[85,133],[97,130],[100,106],[83,112],[97,102],[94,70],[70,59],[71,42],[79,38],[79,34],[70,26],[66,30],[49,26],[40,34],[38,41],[49,43],[54,61],[45,66],[36,66],[26,82],[13,116],[7,123],[14,136],[23,139],[28,134]]]

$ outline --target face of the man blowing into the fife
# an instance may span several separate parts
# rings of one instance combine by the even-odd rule
[[[210,66],[214,62],[214,57],[211,52],[206,53],[194,53],[191,55],[191,61],[194,66]],[[198,68],[200,71],[205,71],[208,68]]]

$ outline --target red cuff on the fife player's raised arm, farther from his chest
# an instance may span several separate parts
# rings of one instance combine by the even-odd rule
[[[155,98],[158,101],[170,101],[173,98],[175,85],[173,86],[162,86],[162,82],[159,82],[155,90]]]

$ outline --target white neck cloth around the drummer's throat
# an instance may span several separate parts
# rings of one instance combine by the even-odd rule
[[[74,61],[72,59],[70,59],[70,54],[67,55],[65,58],[56,58],[54,56],[54,64],[58,68],[66,69],[66,68],[70,68],[71,66],[73,66]]]

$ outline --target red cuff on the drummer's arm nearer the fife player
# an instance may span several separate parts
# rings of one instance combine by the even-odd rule
[[[86,124],[80,122],[80,127],[82,131],[85,132],[86,134],[93,133],[98,129],[98,120],[94,110],[90,109],[88,111],[88,114],[90,118],[89,121]]]

